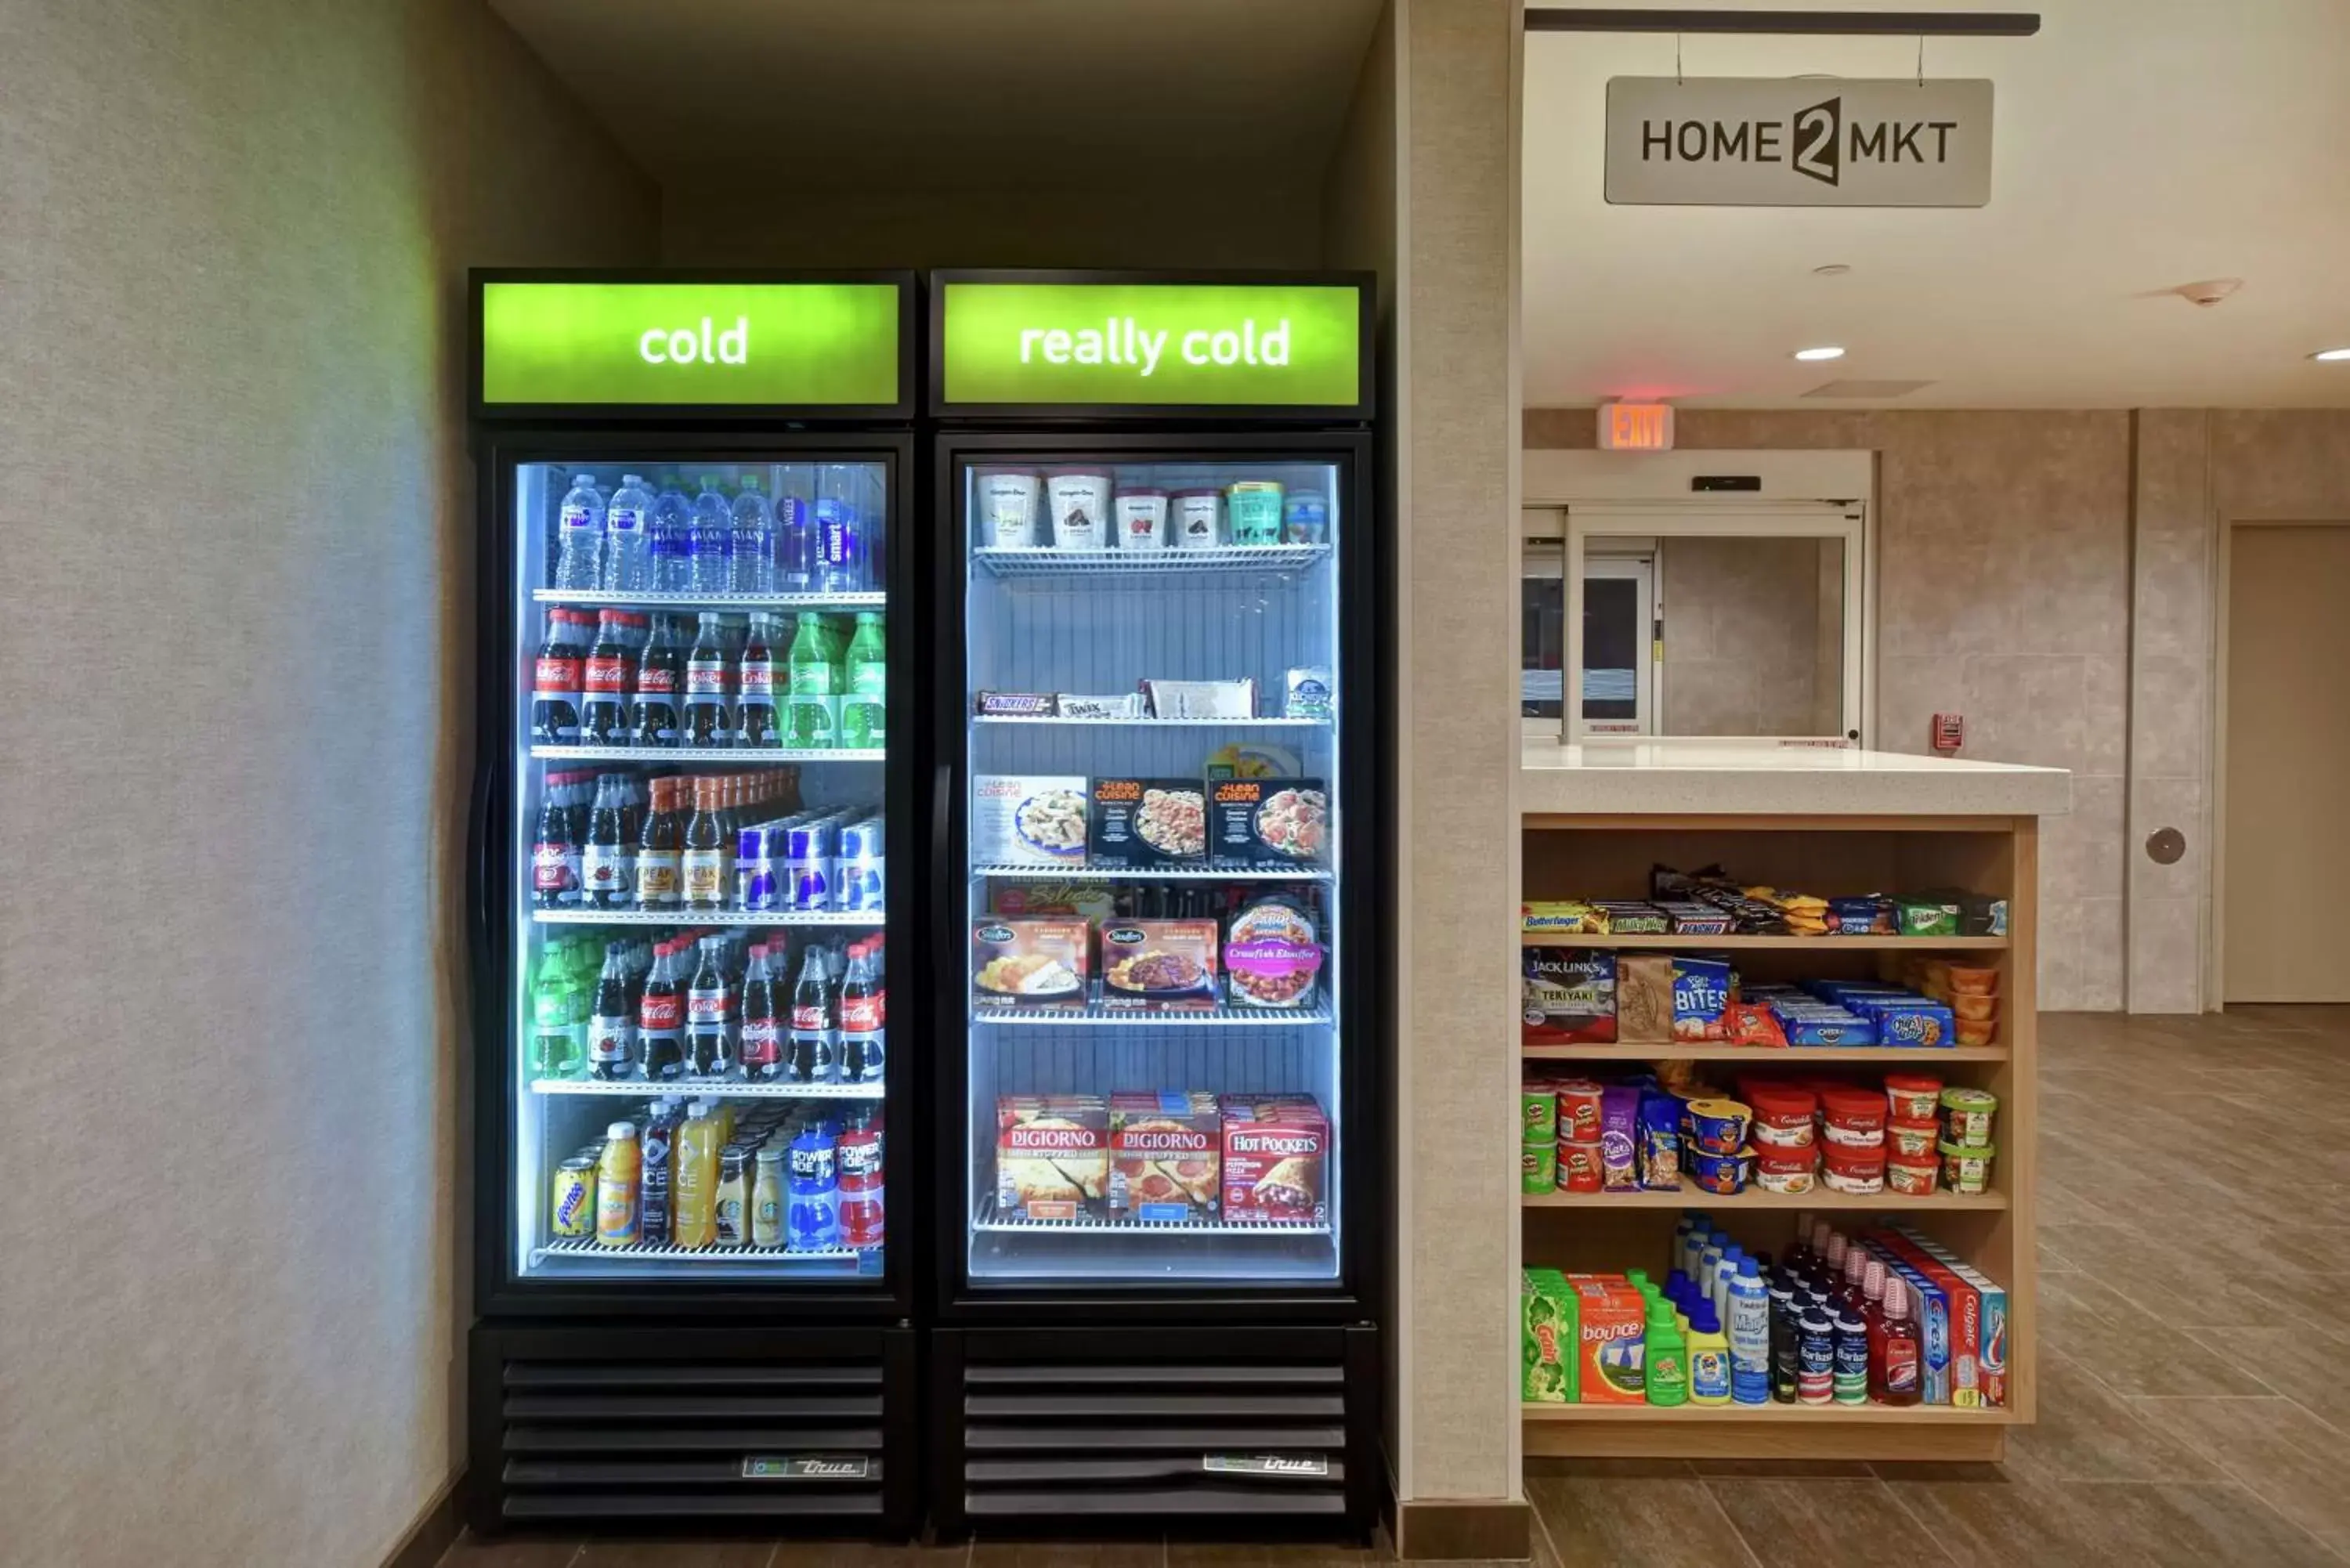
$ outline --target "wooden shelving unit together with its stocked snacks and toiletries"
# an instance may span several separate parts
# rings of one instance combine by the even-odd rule
[[[1668,1387],[1654,1403],[1638,1389],[1589,1403],[1530,1389],[1528,1453],[2005,1453],[2035,1392],[2035,816],[1528,816],[1530,1272],[1560,1272],[1640,1335],[1652,1326],[1640,1269],[1657,1291],[1690,1284],[1673,1284],[1676,1215],[1751,1251],[1765,1274],[1833,1220],[1859,1229],[1833,1237],[1845,1258],[1807,1288],[1871,1333],[1901,1288],[1927,1331],[1946,1331],[1960,1298],[1998,1319],[1995,1342],[1974,1352],[1990,1359],[1981,1389],[1953,1389],[1946,1368],[1922,1396],[1866,1385],[1819,1403],[1753,1385],[1723,1401]],[[1842,1279],[1847,1260],[1856,1272]],[[1882,1265],[1875,1276],[1866,1260]],[[1711,1314],[1676,1326],[1716,1316],[1727,1338],[1732,1302],[1711,1295]],[[1685,1354],[1697,1371],[1694,1342],[1671,1328],[1659,1342],[1668,1368]]]

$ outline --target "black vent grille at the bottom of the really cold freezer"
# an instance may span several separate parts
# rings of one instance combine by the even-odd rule
[[[966,1363],[964,1509],[987,1521],[1347,1519],[1340,1359]]]

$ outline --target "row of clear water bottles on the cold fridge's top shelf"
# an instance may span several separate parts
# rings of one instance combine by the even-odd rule
[[[555,510],[555,588],[604,592],[867,592],[881,585],[877,463],[780,463],[689,482],[573,473]],[[550,487],[552,489],[552,487]]]

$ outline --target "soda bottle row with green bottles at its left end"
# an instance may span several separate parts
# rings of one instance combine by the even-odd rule
[[[872,1084],[888,1058],[884,943],[773,933],[555,936],[531,976],[533,1079]],[[794,978],[797,976],[797,978]]]

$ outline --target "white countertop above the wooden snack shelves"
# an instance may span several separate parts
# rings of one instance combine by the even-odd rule
[[[1518,809],[1570,816],[2063,816],[2073,776],[1821,745],[1528,741]]]

